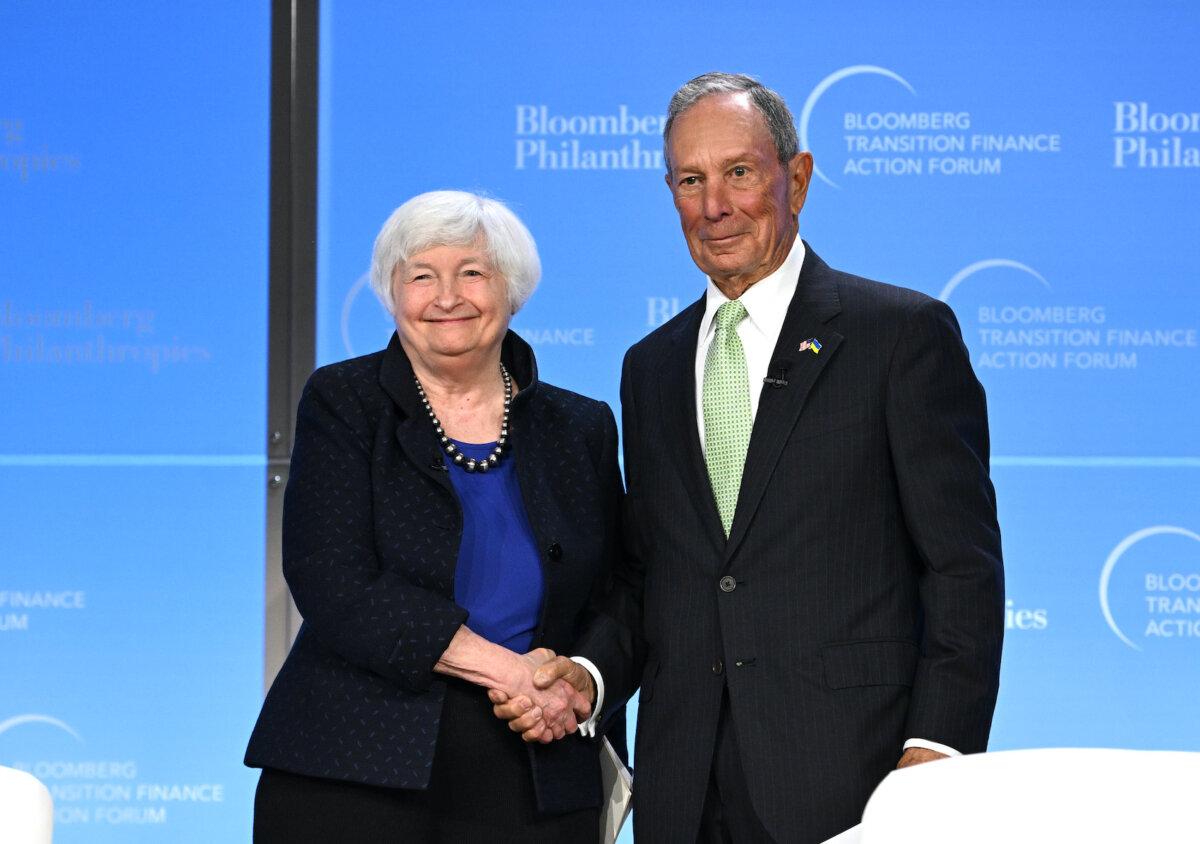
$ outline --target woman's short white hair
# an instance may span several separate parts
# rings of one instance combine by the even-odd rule
[[[391,275],[397,267],[433,246],[469,246],[480,237],[508,282],[509,309],[516,313],[541,279],[538,245],[504,203],[466,191],[421,193],[391,213],[376,238],[371,287],[388,312],[395,313]]]

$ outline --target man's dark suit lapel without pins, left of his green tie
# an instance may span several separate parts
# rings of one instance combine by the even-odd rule
[[[700,448],[700,431],[696,427],[696,341],[700,322],[704,317],[704,297],[684,311],[671,336],[671,348],[664,361],[659,381],[661,401],[660,418],[667,443],[679,443],[673,449],[671,462],[683,477],[684,489],[696,490],[690,496],[700,513],[706,534],[716,546],[725,546],[721,516],[716,510],[713,486],[708,480],[704,453]]]

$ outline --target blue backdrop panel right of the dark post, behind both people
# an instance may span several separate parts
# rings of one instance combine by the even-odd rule
[[[988,391],[1008,573],[991,746],[1200,749],[1200,11],[1172,2],[323,4],[320,360],[383,346],[372,239],[481,188],[538,239],[514,325],[617,407],[701,295],[662,181],[671,92],[779,90],[803,237],[946,299]]]

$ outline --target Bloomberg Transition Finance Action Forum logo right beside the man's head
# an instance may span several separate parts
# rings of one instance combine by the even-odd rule
[[[865,79],[886,79],[887,94]],[[841,83],[840,113],[817,109]],[[964,108],[967,106],[967,108]],[[800,109],[800,149],[814,152],[814,173],[832,187],[869,176],[998,176],[1024,158],[1062,150],[1058,132],[1015,125],[978,125],[970,103],[925,98],[888,67],[853,65],[817,83]],[[836,131],[835,131],[836,127]],[[838,140],[834,142],[835,134]],[[814,149],[812,137],[820,143]]]

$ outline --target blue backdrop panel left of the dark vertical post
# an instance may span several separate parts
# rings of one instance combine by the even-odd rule
[[[0,765],[55,840],[247,840],[265,5],[0,5]]]

